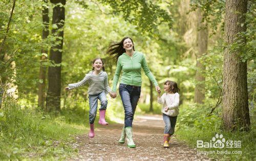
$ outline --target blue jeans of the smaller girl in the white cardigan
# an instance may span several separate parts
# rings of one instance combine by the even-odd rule
[[[174,134],[177,116],[173,117],[163,114],[163,121],[165,123],[164,133],[172,136]]]

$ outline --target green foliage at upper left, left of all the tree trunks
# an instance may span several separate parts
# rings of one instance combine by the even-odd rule
[[[40,55],[41,43],[40,33],[42,29],[41,24],[41,2],[31,3],[29,1],[16,1],[12,20],[10,23],[10,30],[7,35],[6,43],[4,45],[4,53],[12,56],[15,50],[18,50],[14,57],[5,64],[1,70],[2,78],[15,77],[15,84],[18,85],[20,94],[36,93],[37,74],[39,71],[38,56]],[[12,6],[12,1],[4,1],[0,3],[1,27],[0,40],[3,40],[4,32],[7,29],[7,22],[9,20],[9,11]],[[45,44],[45,43],[44,43]],[[1,57],[2,58],[2,57]],[[10,63],[15,62],[15,70],[10,69]],[[2,68],[2,63],[0,68]],[[3,75],[2,75],[3,73]],[[5,75],[6,74],[6,75]],[[5,83],[5,82],[3,82]]]

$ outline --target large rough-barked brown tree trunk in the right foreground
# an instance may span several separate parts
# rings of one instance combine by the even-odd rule
[[[225,43],[231,45],[236,35],[246,31],[246,0],[227,0]],[[242,40],[244,44],[246,39]],[[248,130],[250,126],[247,95],[247,64],[239,58],[239,50],[224,49],[223,66],[223,123],[226,130]]]

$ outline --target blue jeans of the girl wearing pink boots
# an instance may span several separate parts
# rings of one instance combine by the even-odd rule
[[[106,100],[105,92],[101,92],[99,94],[89,95],[89,122],[90,124],[94,123],[97,114],[98,108],[98,99],[100,100],[100,109],[99,110],[106,110],[106,106],[108,105],[108,100]]]

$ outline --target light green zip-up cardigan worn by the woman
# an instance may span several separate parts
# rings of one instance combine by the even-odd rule
[[[150,68],[147,66],[143,53],[135,51],[133,57],[130,57],[124,52],[117,61],[112,91],[116,92],[116,86],[121,70],[123,71],[120,82],[121,84],[141,86],[141,67],[143,68],[146,76],[150,78],[150,81],[152,81],[155,86],[158,86]]]

